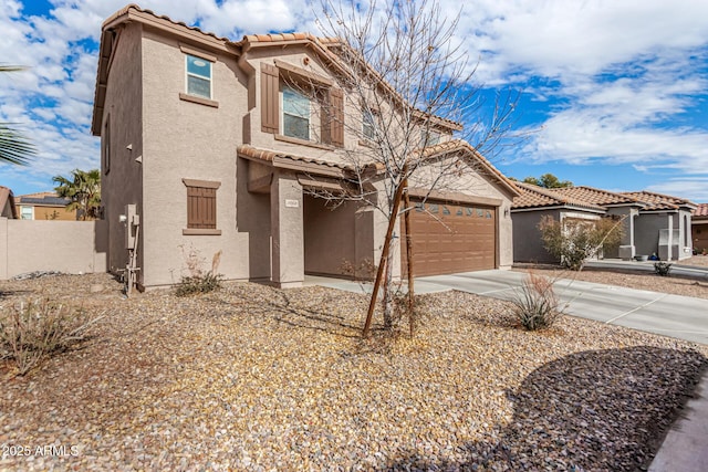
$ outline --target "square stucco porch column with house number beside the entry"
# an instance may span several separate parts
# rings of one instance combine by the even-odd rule
[[[281,289],[304,281],[302,186],[293,172],[277,171],[270,188],[271,281]]]

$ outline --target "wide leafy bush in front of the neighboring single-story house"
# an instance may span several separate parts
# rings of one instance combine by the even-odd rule
[[[622,220],[612,218],[558,221],[546,216],[538,228],[545,250],[559,258],[565,268],[580,271],[585,261],[597,255],[603,248],[620,244],[624,234],[621,223]]]

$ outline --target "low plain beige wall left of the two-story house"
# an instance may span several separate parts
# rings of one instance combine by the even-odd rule
[[[34,271],[105,272],[104,221],[0,218],[0,279]]]

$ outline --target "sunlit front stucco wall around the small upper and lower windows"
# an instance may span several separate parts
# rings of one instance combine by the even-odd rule
[[[188,45],[217,56],[212,98],[218,107],[180,99],[179,94],[186,92],[185,54],[176,39],[166,40],[152,31],[145,31],[143,39],[143,276],[147,285],[171,284],[188,275],[183,251],[192,250],[206,260],[204,270],[211,269],[212,255],[222,251],[218,272],[228,279],[249,277],[252,235],[236,227],[236,148],[247,109],[246,87],[239,83],[243,74],[235,57]],[[183,234],[187,228],[183,178],[220,182],[220,235]]]

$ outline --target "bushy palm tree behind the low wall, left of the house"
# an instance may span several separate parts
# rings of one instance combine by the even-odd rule
[[[54,190],[60,197],[71,200],[66,209],[77,210],[76,214],[82,220],[98,218],[101,214],[101,171],[98,169],[88,171],[74,169],[71,175],[71,180],[62,176],[53,177],[52,180],[59,183]]]

